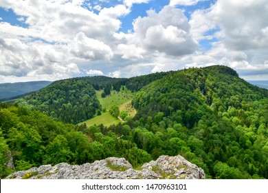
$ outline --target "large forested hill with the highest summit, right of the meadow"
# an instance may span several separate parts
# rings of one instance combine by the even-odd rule
[[[213,178],[268,178],[268,90],[231,68],[180,70],[142,88],[133,103],[133,139],[153,158],[180,153]]]

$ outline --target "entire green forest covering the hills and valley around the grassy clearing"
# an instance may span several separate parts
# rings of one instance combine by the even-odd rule
[[[268,90],[240,79],[231,68],[89,79],[58,81],[15,105],[1,104],[1,176],[11,172],[5,165],[10,157],[15,170],[24,170],[108,156],[125,157],[139,167],[162,154],[181,154],[202,167],[207,178],[268,179]],[[66,124],[101,110],[94,88],[116,90],[119,85],[135,94],[133,118],[109,127]],[[68,104],[70,109],[63,108]]]

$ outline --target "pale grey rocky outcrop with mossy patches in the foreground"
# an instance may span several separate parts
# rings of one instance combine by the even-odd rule
[[[139,170],[124,158],[110,157],[83,165],[41,165],[14,172],[6,179],[205,179],[205,173],[180,155],[159,156]]]

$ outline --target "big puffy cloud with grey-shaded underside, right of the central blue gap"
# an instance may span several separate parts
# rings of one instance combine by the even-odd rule
[[[180,9],[165,6],[159,13],[150,10],[147,14],[133,23],[137,38],[145,48],[172,56],[190,54],[197,49],[197,42],[189,33],[188,19]]]

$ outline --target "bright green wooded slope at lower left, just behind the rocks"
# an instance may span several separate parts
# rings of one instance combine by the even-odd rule
[[[133,167],[152,160],[112,131],[104,135],[95,126],[65,124],[35,110],[0,103],[0,179],[40,165],[82,165],[109,156],[124,157]]]

